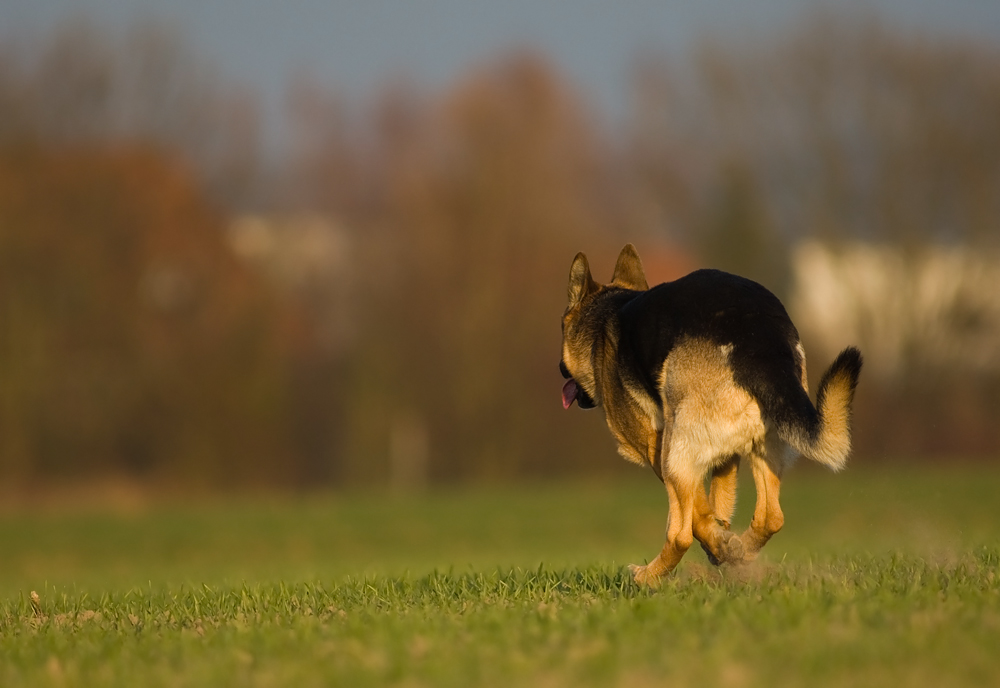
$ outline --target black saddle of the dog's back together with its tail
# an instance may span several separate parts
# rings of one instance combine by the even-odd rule
[[[774,294],[752,280],[698,270],[636,292],[616,314],[618,363],[661,401],[664,363],[685,341],[724,351],[733,382],[759,405],[778,435],[809,458],[842,467],[850,448],[849,412],[861,368],[846,349],[809,399],[798,331]]]

